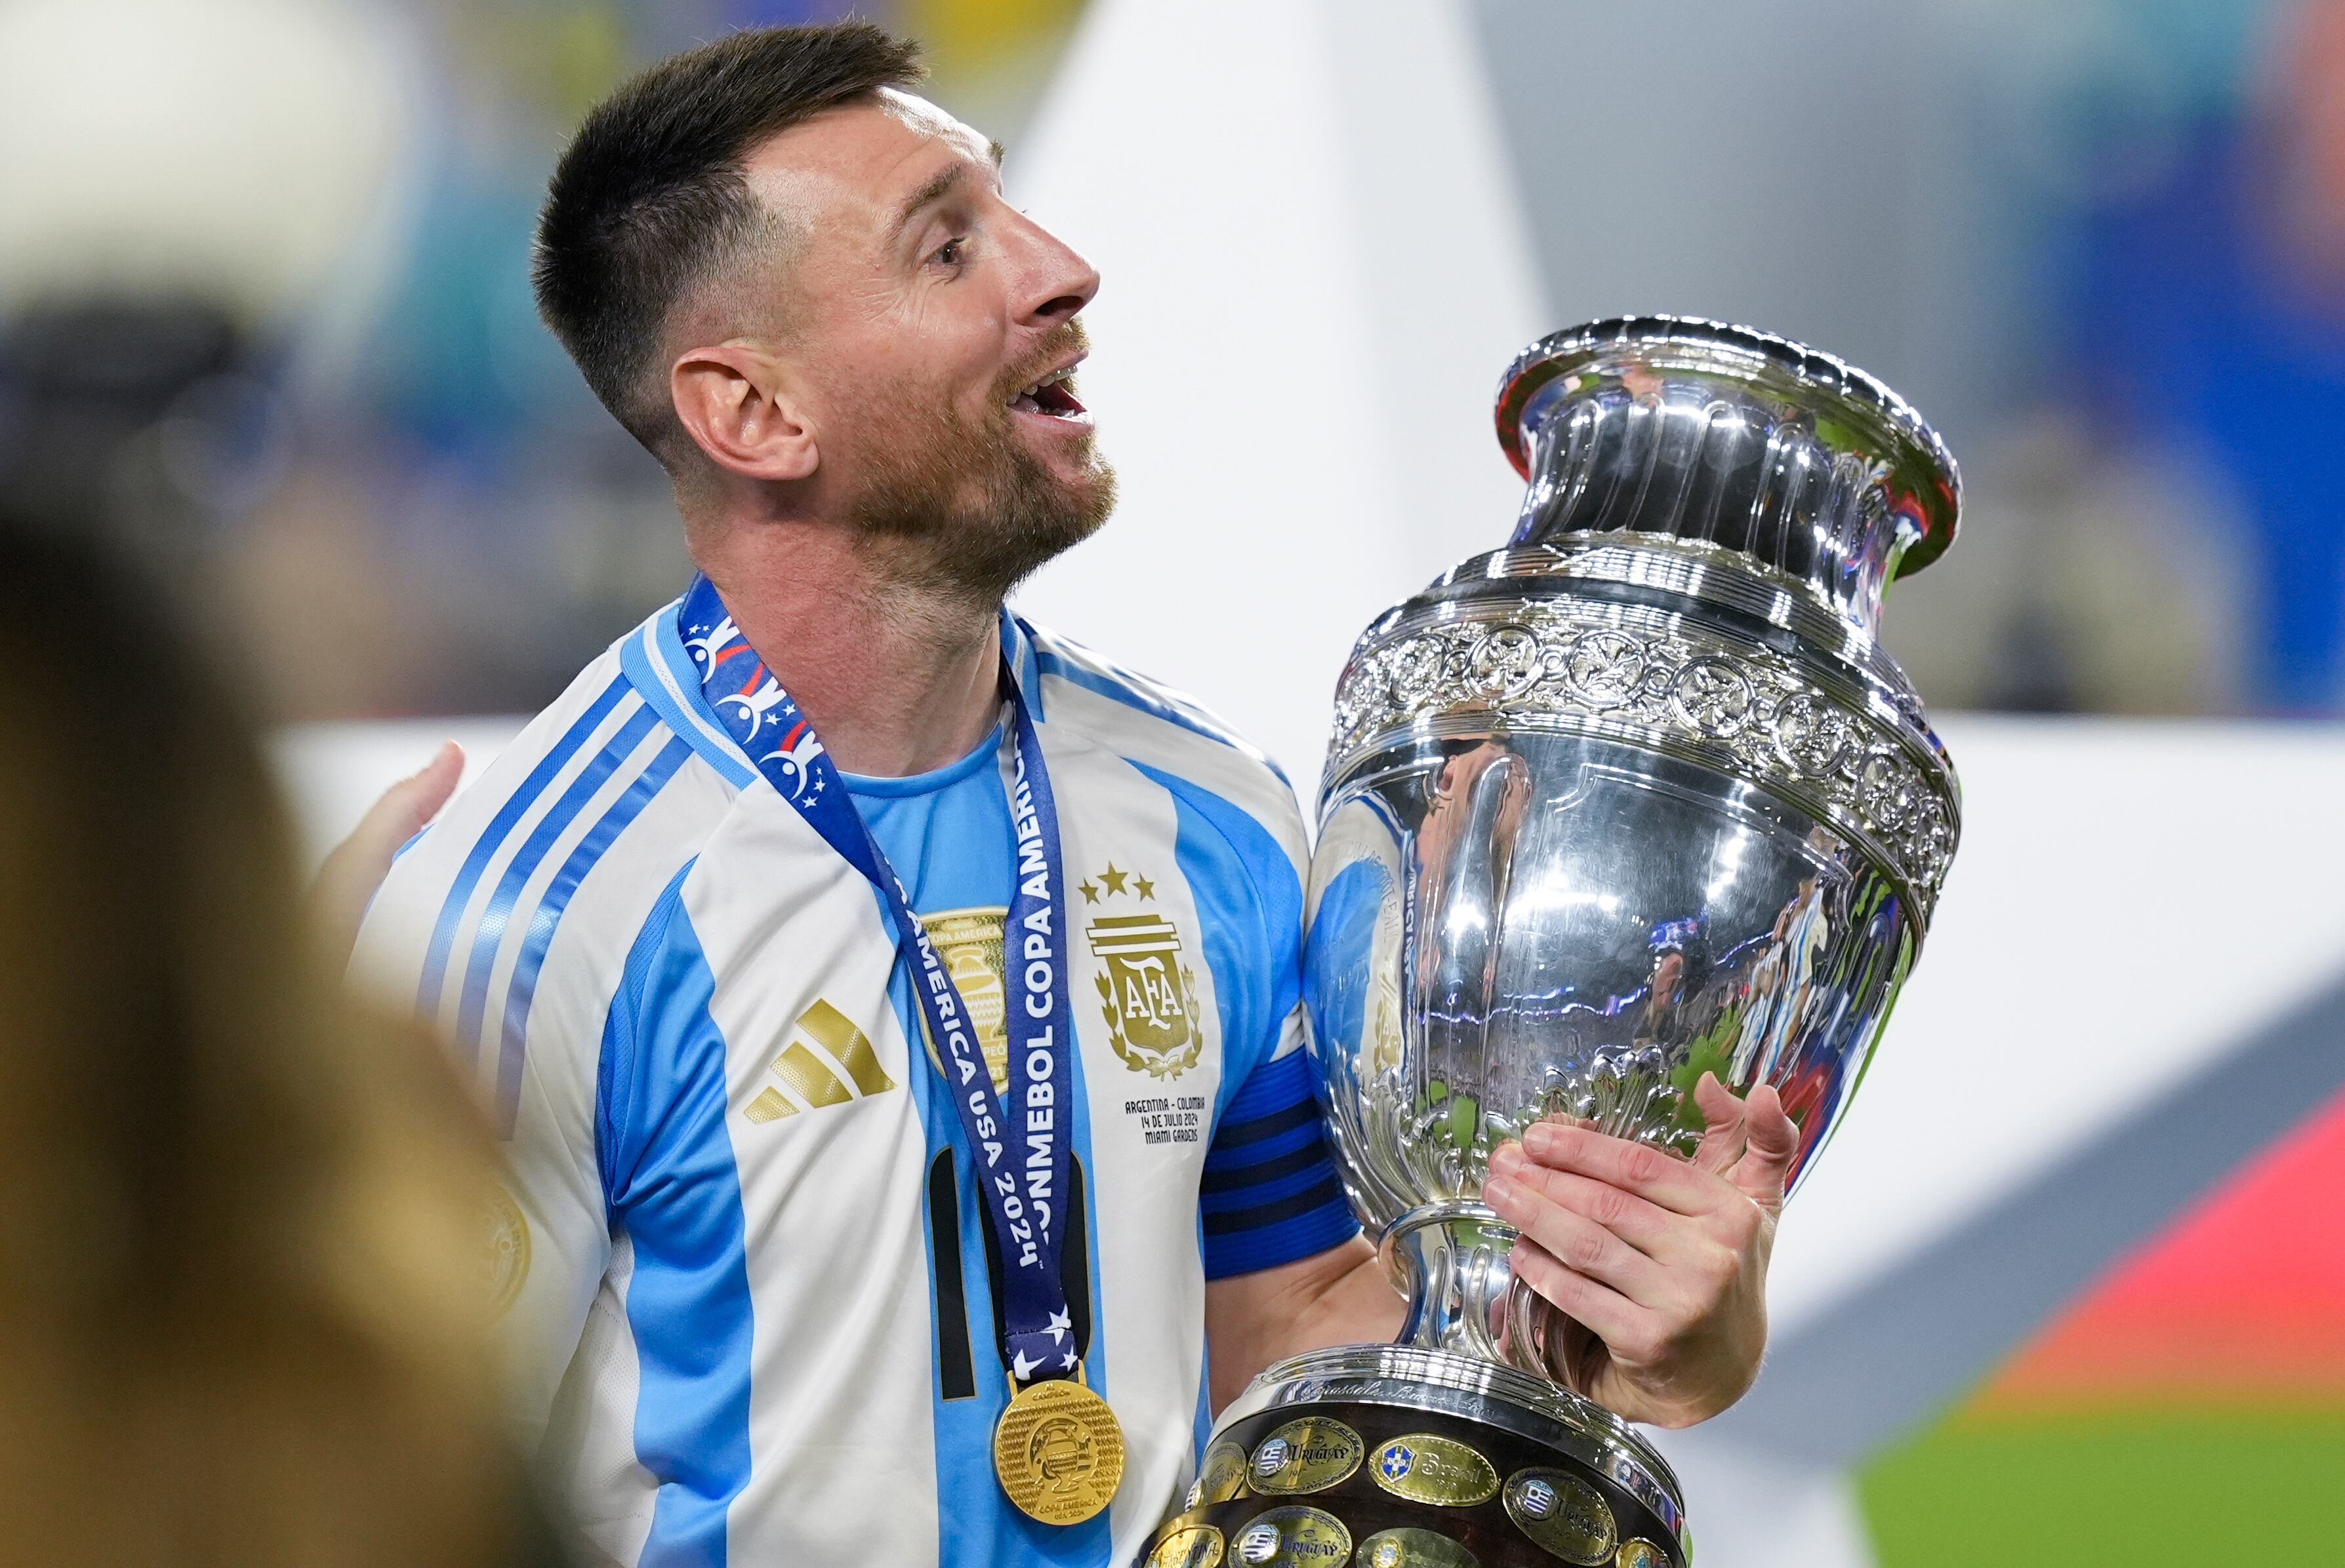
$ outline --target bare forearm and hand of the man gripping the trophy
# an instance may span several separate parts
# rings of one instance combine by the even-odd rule
[[[1484,1191],[1522,1230],[1515,1273],[1573,1320],[1571,1385],[1663,1427],[1717,1416],[1759,1376],[1766,1266],[1799,1130],[1775,1090],[1735,1099],[1695,1088],[1707,1120],[1695,1158],[1569,1123],[1541,1123],[1491,1155]],[[1388,1343],[1402,1301],[1362,1238],[1208,1280],[1212,1409],[1271,1362],[1346,1343]]]

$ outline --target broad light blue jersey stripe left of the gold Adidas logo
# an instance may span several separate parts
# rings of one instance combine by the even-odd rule
[[[643,1568],[722,1568],[750,1470],[741,1174],[725,1130],[725,1036],[708,1015],[715,977],[680,898],[689,870],[628,952],[596,1092],[603,1191],[635,1254],[635,1458],[659,1481]]]

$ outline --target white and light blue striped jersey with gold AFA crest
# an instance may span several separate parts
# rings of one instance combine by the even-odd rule
[[[675,607],[392,867],[354,973],[509,1144],[523,1439],[614,1563],[1128,1563],[1208,1425],[1208,1277],[1353,1235],[1301,1045],[1294,795],[1187,701],[1004,614],[1058,795],[1079,1015],[1067,1296],[1126,1477],[992,1474],[992,1230],[875,888],[701,698]],[[849,778],[1004,1071],[999,743]]]

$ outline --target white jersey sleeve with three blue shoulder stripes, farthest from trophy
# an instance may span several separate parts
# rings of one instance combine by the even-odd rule
[[[406,846],[359,930],[352,982],[441,1036],[504,1146],[490,1249],[523,1448],[624,1263],[605,1036],[659,998],[628,956],[732,799],[605,654]]]

